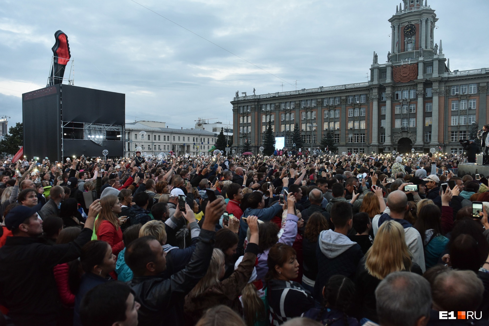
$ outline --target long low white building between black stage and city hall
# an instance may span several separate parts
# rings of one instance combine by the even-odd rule
[[[231,126],[232,128],[232,126]],[[144,140],[139,132],[145,131]],[[232,134],[232,129],[231,129]],[[177,155],[209,155],[208,150],[216,142],[218,133],[202,129],[173,129],[165,122],[136,121],[126,123],[124,155],[134,155],[134,149],[141,146],[142,152],[157,155],[173,150]]]

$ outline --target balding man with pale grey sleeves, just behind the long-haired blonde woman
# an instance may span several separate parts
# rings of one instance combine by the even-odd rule
[[[391,192],[389,196],[387,196],[387,208],[382,214],[376,215],[372,220],[374,236],[377,235],[378,228],[385,221],[394,220],[399,222],[404,228],[406,245],[413,254],[413,262],[420,265],[424,273],[426,268],[424,265],[423,242],[420,232],[418,232],[411,223],[404,220],[404,215],[408,209],[407,196],[404,191],[395,190]]]

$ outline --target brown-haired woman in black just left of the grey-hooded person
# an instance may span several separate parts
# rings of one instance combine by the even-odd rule
[[[316,246],[317,237],[321,231],[329,229],[328,221],[320,212],[312,213],[304,230],[302,240],[302,255],[304,262],[302,265],[302,286],[309,292],[314,291],[314,283],[317,276]]]

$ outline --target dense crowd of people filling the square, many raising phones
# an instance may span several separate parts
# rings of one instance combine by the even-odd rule
[[[465,159],[7,160],[0,326],[489,325],[489,185]]]

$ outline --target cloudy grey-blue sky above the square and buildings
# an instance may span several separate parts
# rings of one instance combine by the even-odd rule
[[[257,94],[366,81],[390,50],[399,0],[0,0],[0,115],[45,86],[54,33],[68,35],[75,85],[126,94],[126,122],[193,127],[231,120],[236,91]],[[487,0],[428,0],[452,70],[489,67]]]

